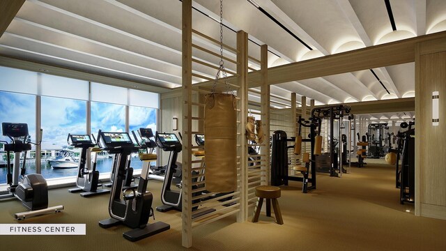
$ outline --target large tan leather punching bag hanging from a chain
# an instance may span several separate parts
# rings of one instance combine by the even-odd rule
[[[204,111],[206,190],[233,192],[237,189],[237,103],[226,93],[206,95]]]

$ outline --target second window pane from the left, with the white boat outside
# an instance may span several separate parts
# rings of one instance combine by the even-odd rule
[[[45,178],[77,174],[81,149],[67,142],[68,133],[86,134],[89,82],[40,74],[40,121],[43,129],[41,173]]]

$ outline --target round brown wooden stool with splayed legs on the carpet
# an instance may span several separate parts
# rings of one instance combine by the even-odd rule
[[[282,220],[282,213],[280,213],[279,202],[277,202],[277,198],[280,197],[280,188],[272,185],[259,185],[258,187],[256,187],[256,197],[259,197],[259,200],[257,202],[256,212],[254,213],[252,222],[259,221],[263,199],[266,199],[266,216],[271,217],[272,202],[272,208],[274,208],[276,222],[279,225],[283,225],[284,220]]]

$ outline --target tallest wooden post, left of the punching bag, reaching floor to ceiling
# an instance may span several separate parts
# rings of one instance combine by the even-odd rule
[[[183,169],[182,169],[182,245],[192,246],[192,0],[183,0]]]

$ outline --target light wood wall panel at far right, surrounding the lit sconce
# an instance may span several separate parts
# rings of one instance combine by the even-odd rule
[[[439,126],[432,92],[439,92]],[[415,48],[415,215],[446,220],[446,38]]]

